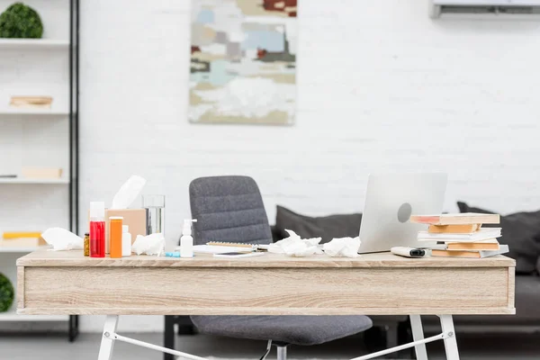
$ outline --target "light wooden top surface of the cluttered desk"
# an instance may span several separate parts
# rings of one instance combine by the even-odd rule
[[[365,254],[356,258],[285,257],[281,254],[265,254],[261,257],[237,259],[216,258],[208,254],[196,254],[189,259],[155,256],[131,256],[122,258],[84,257],[82,250],[34,251],[17,260],[17,266],[81,266],[81,267],[514,267],[515,260],[504,257],[452,258],[398,257],[391,253]]]

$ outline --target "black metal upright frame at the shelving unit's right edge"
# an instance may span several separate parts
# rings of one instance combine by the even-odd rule
[[[69,0],[69,229],[78,234],[79,0]],[[78,336],[78,315],[69,315],[69,342]]]

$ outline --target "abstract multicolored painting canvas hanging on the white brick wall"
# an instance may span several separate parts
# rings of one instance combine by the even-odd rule
[[[192,0],[189,121],[291,124],[296,0]]]

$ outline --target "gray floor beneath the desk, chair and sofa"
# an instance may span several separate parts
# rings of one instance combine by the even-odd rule
[[[162,334],[122,334],[161,344]],[[0,358],[10,360],[95,360],[99,347],[99,334],[82,334],[69,344],[65,335],[14,336],[0,334]],[[223,359],[258,359],[266,343],[240,341],[208,336],[181,336],[176,340],[179,350],[198,356]],[[462,360],[533,360],[540,358],[540,334],[490,335],[472,334],[458,337]],[[428,344],[430,360],[446,358],[440,343]],[[318,347],[290,347],[291,360],[351,359],[365,353],[358,347],[358,338],[346,338]],[[117,343],[113,360],[161,360],[162,354],[142,347]],[[275,359],[275,353],[268,359]]]

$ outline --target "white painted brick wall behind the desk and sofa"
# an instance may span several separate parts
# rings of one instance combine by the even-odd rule
[[[193,125],[189,3],[82,2],[81,214],[139,174],[145,193],[166,194],[174,242],[197,176],[252,175],[273,221],[276,203],[362,211],[368,173],[407,170],[447,171],[451,211],[457,198],[540,208],[540,22],[432,21],[427,0],[301,0],[296,124]]]

